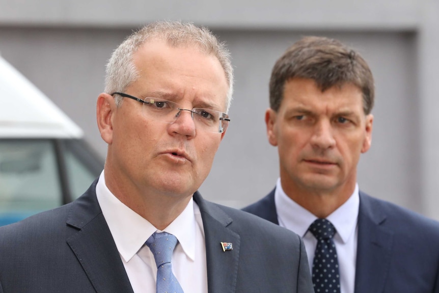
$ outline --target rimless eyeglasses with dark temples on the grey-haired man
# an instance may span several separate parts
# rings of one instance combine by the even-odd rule
[[[164,123],[172,124],[177,120],[178,116],[180,116],[181,111],[189,111],[197,129],[223,133],[226,131],[230,121],[229,115],[216,110],[203,108],[194,108],[192,110],[183,109],[179,104],[173,101],[158,98],[145,98],[142,100],[119,92],[114,92],[111,95],[120,95],[125,98],[142,102],[143,116]]]

